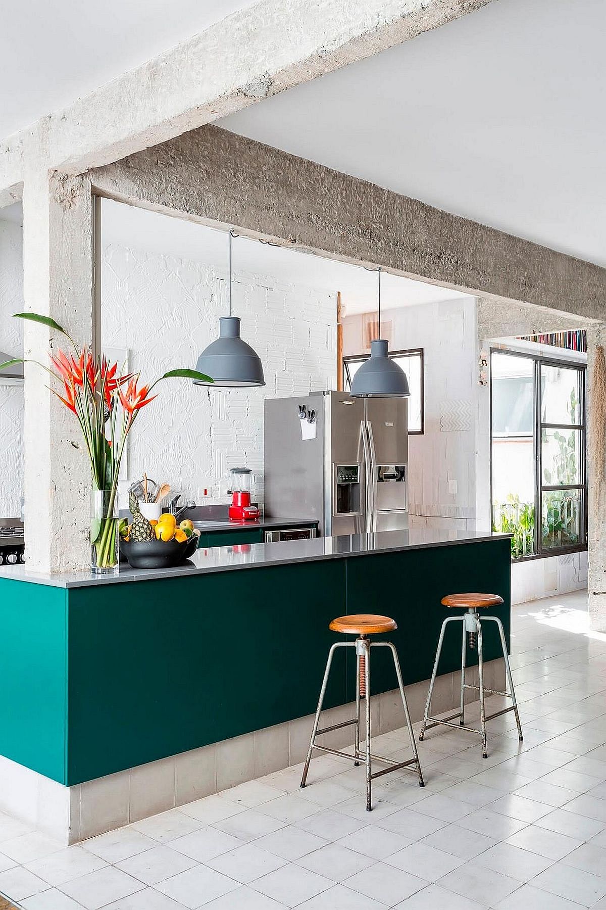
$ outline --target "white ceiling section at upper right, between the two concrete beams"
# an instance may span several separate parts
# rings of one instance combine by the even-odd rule
[[[606,3],[493,0],[219,121],[606,265]]]

